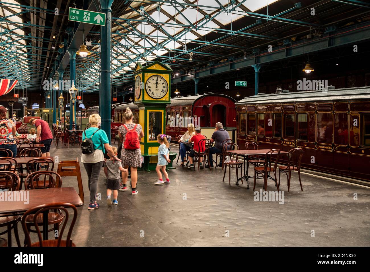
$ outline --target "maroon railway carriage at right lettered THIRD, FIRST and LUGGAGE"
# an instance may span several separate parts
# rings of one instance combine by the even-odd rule
[[[236,105],[240,148],[300,147],[302,167],[370,181],[369,87],[255,95]]]

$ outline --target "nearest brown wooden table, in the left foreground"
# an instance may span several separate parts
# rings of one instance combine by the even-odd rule
[[[28,209],[34,208],[38,205],[53,204],[53,203],[70,203],[76,207],[84,205],[80,196],[73,187],[49,188],[49,189],[35,189],[35,190],[20,190],[12,191],[27,194],[28,204],[24,201],[1,201],[0,216],[4,214],[24,214]],[[27,203],[27,202],[26,202]],[[43,236],[44,240],[48,239],[48,211],[44,212],[43,220]]]

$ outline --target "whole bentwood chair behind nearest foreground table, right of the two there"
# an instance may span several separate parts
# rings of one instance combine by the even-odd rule
[[[54,175],[56,176],[54,178]],[[32,189],[47,189],[47,188],[54,188],[55,185],[59,184],[59,187],[61,187],[62,181],[61,177],[58,173],[53,172],[53,171],[38,171],[38,172],[33,172],[28,175],[25,181],[25,187],[26,190],[32,190]],[[28,212],[28,211],[27,211]],[[26,213],[27,213],[26,212]],[[35,216],[37,219],[35,219]],[[47,229],[46,231],[59,231],[59,225],[63,221],[64,214],[61,213],[60,210],[55,209],[54,212],[49,212],[48,213],[48,225],[53,225],[53,228]],[[40,231],[38,229],[38,225],[43,225],[44,222],[44,214],[24,214],[22,217],[22,226],[23,230],[25,226],[23,225],[23,222],[26,225],[27,231],[28,232],[44,232]],[[36,230],[31,229],[31,227],[34,226]],[[40,234],[39,234],[40,235]],[[24,240],[24,245],[31,245],[29,241],[27,241],[27,236],[25,237]]]

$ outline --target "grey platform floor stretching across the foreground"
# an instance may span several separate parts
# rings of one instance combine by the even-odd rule
[[[80,159],[81,151],[79,146],[56,148],[53,144],[51,155],[59,161]],[[253,181],[250,189],[246,182],[236,186],[235,172],[229,185],[228,173],[222,182],[221,168],[197,172],[177,167],[168,171],[170,185],[155,186],[155,172],[139,171],[138,194],[118,192],[118,205],[108,207],[102,170],[98,185],[101,206],[88,211],[87,175],[82,164],[81,171],[85,205],[78,208],[73,233],[77,246],[370,245],[370,188],[302,174],[302,192],[293,172],[290,192],[282,176],[284,204],[256,202]],[[77,182],[64,178],[63,186],[77,188]],[[260,189],[261,179],[256,185],[256,190]],[[269,181],[268,190],[275,189]]]

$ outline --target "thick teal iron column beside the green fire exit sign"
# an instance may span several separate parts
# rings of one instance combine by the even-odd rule
[[[105,13],[105,26],[101,26],[100,52],[100,116],[101,129],[111,140],[111,18],[114,0],[100,0],[100,12]]]

